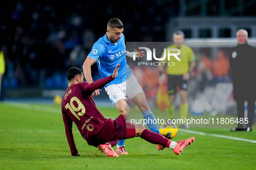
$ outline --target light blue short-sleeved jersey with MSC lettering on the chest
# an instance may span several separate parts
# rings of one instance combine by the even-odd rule
[[[120,64],[116,79],[104,87],[120,84],[132,76],[133,72],[126,63],[125,54],[126,46],[123,34],[119,41],[114,44],[109,41],[107,35],[104,35],[104,37],[101,37],[92,47],[92,50],[87,57],[90,57],[97,62],[101,79],[112,75],[117,64]]]

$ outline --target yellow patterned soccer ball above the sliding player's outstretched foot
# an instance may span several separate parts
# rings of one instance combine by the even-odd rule
[[[175,125],[175,123],[172,123],[171,120],[164,122],[160,128],[159,131],[161,135],[165,136],[168,139],[174,138],[178,133],[178,127]]]

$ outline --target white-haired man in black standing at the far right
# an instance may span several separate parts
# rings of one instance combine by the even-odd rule
[[[247,44],[248,32],[237,31],[238,45],[230,50],[229,61],[233,81],[233,97],[237,101],[238,126],[232,131],[250,132],[253,126],[254,107],[256,100],[256,49]],[[248,123],[245,121],[244,102],[248,106]],[[245,123],[242,123],[242,121]],[[245,124],[245,128],[244,125]]]

